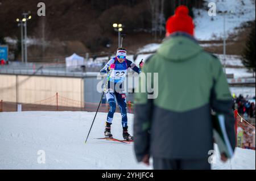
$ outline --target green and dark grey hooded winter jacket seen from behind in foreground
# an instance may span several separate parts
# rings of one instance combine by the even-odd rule
[[[185,33],[168,37],[145,61],[142,72],[158,76],[140,78],[139,87],[155,86],[154,91],[135,95],[134,149],[138,161],[148,153],[169,159],[209,157],[208,151],[213,149],[211,109],[225,115],[234,148],[232,96],[221,62],[193,37]],[[150,95],[154,99],[148,99]]]

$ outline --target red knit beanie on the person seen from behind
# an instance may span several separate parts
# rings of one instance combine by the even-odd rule
[[[171,33],[182,31],[194,36],[194,23],[191,16],[188,15],[187,6],[179,6],[175,10],[175,15],[171,16],[166,22],[166,36]]]

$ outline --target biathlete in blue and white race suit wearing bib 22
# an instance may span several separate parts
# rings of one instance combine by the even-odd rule
[[[126,59],[126,49],[118,48],[117,54],[114,58],[110,59],[108,63],[101,69],[100,73],[108,74],[108,89],[106,89],[106,99],[109,103],[109,113],[105,123],[105,137],[112,138],[113,135],[110,131],[111,124],[114,116],[114,112],[116,109],[117,100],[118,106],[120,108],[121,116],[122,116],[122,128],[123,128],[123,139],[130,141],[133,140],[133,136],[128,133],[128,125],[127,125],[127,112],[126,112],[126,94],[123,89],[123,81],[125,80],[127,69],[131,68],[138,74],[141,73],[141,68],[143,66],[143,61],[139,63],[139,68],[133,62]],[[116,89],[117,87],[118,89]]]

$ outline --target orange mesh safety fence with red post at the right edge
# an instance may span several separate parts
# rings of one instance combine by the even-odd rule
[[[255,127],[248,123],[238,111],[234,111],[236,119],[236,146],[255,150]]]

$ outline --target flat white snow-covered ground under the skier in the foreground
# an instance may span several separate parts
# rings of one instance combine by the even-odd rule
[[[98,113],[84,144],[93,117],[94,112],[1,112],[0,169],[152,169],[137,163],[133,144],[94,139],[104,136],[106,113]],[[133,133],[133,115],[128,121]],[[115,113],[112,133],[122,138],[121,130],[121,115]],[[45,163],[38,163],[42,153]],[[212,169],[255,169],[254,150],[238,148],[225,164],[218,154],[216,159]]]

